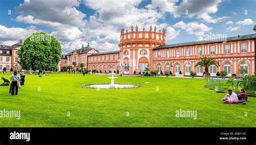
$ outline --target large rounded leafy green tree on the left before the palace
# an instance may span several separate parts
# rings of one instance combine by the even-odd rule
[[[32,33],[18,50],[19,65],[25,70],[55,71],[62,53],[53,36],[43,32]]]

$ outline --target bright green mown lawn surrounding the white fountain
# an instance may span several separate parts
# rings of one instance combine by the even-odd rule
[[[21,111],[20,120],[0,118],[0,127],[256,127],[256,98],[246,105],[223,104],[225,94],[205,88],[205,79],[118,77],[115,82],[141,86],[97,91],[78,86],[110,83],[106,75],[26,75],[18,96],[0,86],[0,110]],[[176,118],[179,109],[197,111],[197,119]]]

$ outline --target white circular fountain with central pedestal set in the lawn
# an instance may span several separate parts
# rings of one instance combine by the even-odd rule
[[[129,85],[129,84],[114,84],[114,79],[116,79],[117,77],[114,77],[114,70],[112,71],[112,75],[111,77],[107,77],[109,79],[111,79],[111,84],[95,84],[95,85],[88,85],[87,87],[89,88],[134,88],[134,87],[138,87],[138,85]]]

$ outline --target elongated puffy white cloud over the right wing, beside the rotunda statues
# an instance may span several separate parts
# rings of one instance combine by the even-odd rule
[[[205,32],[212,30],[212,27],[208,27],[203,23],[199,24],[198,22],[185,23],[180,21],[174,24],[173,27],[178,27],[185,30],[188,34],[195,34],[196,36],[204,36]]]

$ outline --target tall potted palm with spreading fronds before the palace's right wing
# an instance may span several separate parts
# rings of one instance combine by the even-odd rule
[[[200,57],[200,60],[196,63],[197,66],[203,66],[205,68],[204,78],[210,77],[210,73],[208,73],[208,67],[211,65],[219,66],[219,63],[213,58]]]

